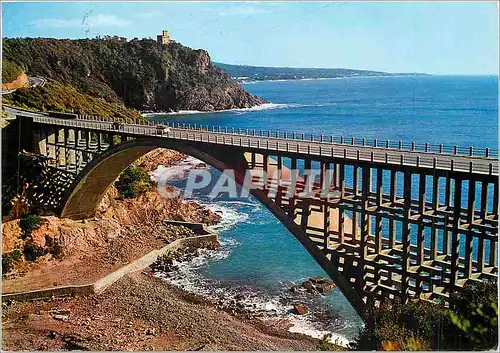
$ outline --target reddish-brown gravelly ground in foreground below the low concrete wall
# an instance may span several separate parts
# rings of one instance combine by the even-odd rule
[[[5,350],[315,350],[318,344],[138,272],[101,295],[4,304],[2,321]]]

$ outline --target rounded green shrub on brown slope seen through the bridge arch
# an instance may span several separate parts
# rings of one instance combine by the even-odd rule
[[[139,166],[127,167],[115,182],[120,197],[131,199],[150,190],[154,183],[146,170]]]

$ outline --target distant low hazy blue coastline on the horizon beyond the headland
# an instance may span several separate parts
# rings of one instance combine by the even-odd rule
[[[265,67],[230,65],[214,63],[226,71],[231,77],[240,81],[259,80],[294,80],[305,78],[336,78],[355,76],[393,76],[393,75],[415,75],[389,73],[382,71],[352,70],[352,69],[320,69],[320,68],[296,68],[296,67]],[[418,74],[421,75],[421,74]]]

